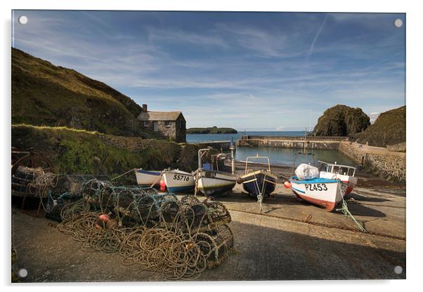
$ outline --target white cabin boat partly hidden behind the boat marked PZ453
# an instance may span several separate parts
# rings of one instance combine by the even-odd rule
[[[320,163],[320,178],[329,178],[334,180],[341,180],[346,187],[345,195],[351,193],[353,188],[357,185],[356,168],[353,166],[346,166],[327,163],[325,161],[318,161]]]

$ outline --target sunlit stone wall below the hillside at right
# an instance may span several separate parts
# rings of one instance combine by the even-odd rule
[[[352,142],[339,143],[339,151],[364,168],[380,173],[389,180],[405,182],[406,164],[404,152],[393,152],[382,147],[371,147]]]

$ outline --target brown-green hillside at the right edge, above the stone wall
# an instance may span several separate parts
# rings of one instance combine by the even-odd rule
[[[353,136],[353,140],[372,146],[386,147],[405,142],[405,105],[395,110],[383,112],[377,117],[374,124],[362,133]]]

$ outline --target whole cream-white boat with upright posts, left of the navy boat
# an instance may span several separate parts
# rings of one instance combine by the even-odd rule
[[[219,171],[219,155],[212,155],[211,164],[202,164],[202,157],[209,149],[198,150],[198,169],[193,174],[198,190],[205,196],[213,196],[229,192],[235,187],[237,175]],[[223,157],[223,156],[220,156]]]

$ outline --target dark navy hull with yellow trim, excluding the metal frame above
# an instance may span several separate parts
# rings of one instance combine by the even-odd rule
[[[241,176],[242,188],[249,195],[266,197],[275,190],[276,179],[275,175],[266,171],[254,171]]]

